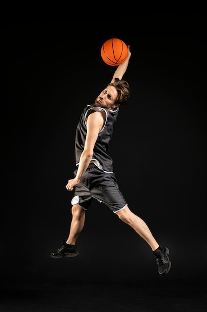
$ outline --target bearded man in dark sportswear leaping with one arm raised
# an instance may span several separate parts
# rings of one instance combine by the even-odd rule
[[[128,207],[113,172],[112,158],[107,153],[120,105],[126,105],[130,97],[129,84],[122,80],[130,57],[131,51],[128,47],[128,57],[117,67],[111,83],[100,93],[93,105],[85,107],[80,117],[75,136],[77,168],[74,178],[66,185],[67,190],[74,189],[69,237],[63,241],[61,248],[52,252],[51,257],[76,257],[79,254],[76,240],[84,226],[85,212],[92,200],[96,199],[108,206],[148,243],[157,261],[158,273],[164,276],[171,268],[169,249],[157,243],[146,223]]]

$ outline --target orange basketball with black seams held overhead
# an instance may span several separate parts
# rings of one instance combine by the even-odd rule
[[[128,47],[121,39],[109,39],[101,47],[102,60],[110,66],[119,66],[126,60],[127,55]]]

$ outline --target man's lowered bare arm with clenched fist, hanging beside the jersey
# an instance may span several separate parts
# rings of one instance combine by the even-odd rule
[[[87,119],[87,135],[85,138],[84,150],[80,156],[77,174],[75,178],[70,179],[66,188],[69,191],[73,190],[73,187],[80,182],[85,170],[87,169],[91,158],[93,156],[93,149],[98,138],[98,133],[101,131],[104,125],[105,112],[94,112],[90,114]]]

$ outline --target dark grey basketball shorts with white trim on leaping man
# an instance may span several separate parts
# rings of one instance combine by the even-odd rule
[[[77,169],[74,170],[74,176]],[[87,210],[93,199],[103,202],[113,212],[118,212],[127,206],[114,173],[105,173],[95,164],[86,169],[80,182],[75,186],[71,204],[79,204]]]

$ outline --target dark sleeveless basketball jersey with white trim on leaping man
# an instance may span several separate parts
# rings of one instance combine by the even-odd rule
[[[117,120],[119,114],[119,107],[116,110],[111,111],[102,107],[96,107],[95,104],[87,105],[83,110],[79,123],[76,129],[75,135],[75,163],[79,164],[80,156],[84,149],[85,138],[86,138],[86,118],[95,111],[105,111],[106,121],[103,129],[99,132],[97,141],[93,150],[92,161],[104,172],[113,172],[113,160],[108,155],[107,151],[109,143],[113,134],[113,126]]]

